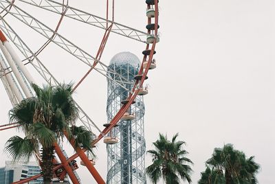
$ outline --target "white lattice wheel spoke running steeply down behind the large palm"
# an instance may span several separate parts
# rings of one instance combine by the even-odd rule
[[[39,74],[42,76],[42,78],[49,84],[60,84],[56,78],[50,73],[50,71],[43,65],[41,60],[34,54],[34,52],[23,42],[23,40],[19,37],[19,35],[14,32],[12,27],[1,17],[1,23],[0,23],[0,28],[1,30],[5,33],[5,35],[14,43],[14,45],[21,51],[23,56],[25,56],[24,62],[30,63],[36,71],[39,72]],[[77,108],[79,109],[79,114],[78,114],[78,119],[80,122],[82,122],[91,132],[94,132],[91,130],[91,127],[96,128],[99,133],[101,133],[100,128],[96,126],[96,124],[91,120],[91,118],[83,111],[83,108],[81,108],[77,103],[76,103]]]

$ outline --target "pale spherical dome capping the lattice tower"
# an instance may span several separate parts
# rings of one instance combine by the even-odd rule
[[[118,54],[115,54],[113,58],[111,58],[110,65],[125,65],[129,64],[133,67],[140,67],[140,60],[129,51],[122,51]]]

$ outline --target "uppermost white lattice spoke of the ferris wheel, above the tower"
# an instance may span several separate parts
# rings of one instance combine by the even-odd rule
[[[30,5],[34,5],[38,8],[43,8],[44,10],[48,10],[48,11],[54,12],[56,14],[62,14],[63,8],[64,8],[62,3],[58,3],[58,2],[52,1],[52,0],[40,0],[40,1],[18,0],[18,1],[21,1],[23,3],[28,3]],[[76,8],[69,6],[69,5],[67,5],[66,8],[67,8],[67,12],[66,12],[65,16],[67,16],[70,19],[75,19],[77,21],[99,27],[103,30],[107,30],[107,27],[106,27],[107,23],[113,23],[111,32],[113,32],[115,34],[120,34],[122,36],[126,36],[128,38],[132,38],[132,39],[134,39],[136,41],[140,41],[142,43],[146,43],[146,36],[148,35],[146,32],[142,32],[142,31],[136,30],[132,27],[128,27],[126,25],[122,25],[120,23],[116,23],[114,21],[104,19],[100,16],[96,16],[94,14],[84,12],[83,10],[78,10]]]

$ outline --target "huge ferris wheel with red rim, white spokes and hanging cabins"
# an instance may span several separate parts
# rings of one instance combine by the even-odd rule
[[[104,78],[107,78],[107,80],[111,80],[128,91],[128,97],[121,102],[121,108],[113,116],[109,124],[104,124],[104,129],[100,128],[100,126],[85,113],[80,104],[76,102],[79,110],[78,121],[96,135],[94,144],[98,143],[101,139],[107,144],[118,143],[117,137],[112,137],[109,133],[118,124],[120,119],[134,118],[133,114],[128,113],[127,110],[131,108],[131,104],[135,102],[137,95],[146,95],[148,93],[147,87],[144,87],[144,80],[148,78],[148,71],[156,67],[156,60],[153,56],[156,53],[155,45],[159,42],[158,2],[158,0],[146,0],[144,2],[144,6],[146,7],[144,19],[147,19],[147,23],[144,25],[146,29],[140,31],[115,22],[114,0],[107,0],[106,17],[104,18],[70,6],[69,0],[0,0],[0,78],[12,105],[14,106],[24,98],[34,95],[30,84],[37,84],[37,82],[26,66],[32,66],[36,73],[39,73],[45,80],[45,83],[60,84],[50,70],[45,67],[43,60],[39,59],[39,55],[43,54],[46,47],[52,44],[57,45],[61,47],[65,53],[71,54],[87,66],[87,72],[76,83],[73,91],[82,84],[91,72],[99,73],[104,76]],[[36,11],[43,9],[44,11],[56,14],[56,16],[59,17],[58,23],[56,23],[54,27],[47,25],[45,21],[41,21],[36,16],[32,16],[30,11],[24,10],[24,4]],[[21,38],[20,30],[15,31],[16,29],[13,27],[13,22],[10,21],[8,17],[12,17],[12,20],[19,21],[25,27],[28,27],[28,29],[38,32],[40,36],[45,39],[43,45],[39,46],[39,49],[30,49],[31,47],[27,44],[28,41],[24,41],[23,38]],[[86,26],[97,27],[98,29],[104,30],[101,42],[98,43],[99,47],[96,56],[92,56],[88,51],[85,51],[61,34],[60,27],[63,21],[69,19]],[[140,51],[140,53],[142,53],[142,65],[137,75],[134,76],[134,80],[125,78],[117,71],[109,68],[108,65],[101,60],[110,34],[118,34],[135,42],[144,43],[144,50]],[[20,58],[18,54],[21,54],[23,58]],[[112,75],[115,75],[115,78],[112,78]],[[131,89],[129,89],[129,84]],[[17,123],[3,124],[0,125],[0,130],[15,128],[17,126],[19,126]],[[80,157],[83,165],[87,167],[91,175],[94,176],[94,179],[98,183],[104,183],[104,180],[94,167],[93,161],[85,154],[86,150],[77,150],[75,154],[68,157],[65,151],[61,149],[61,146],[55,145],[55,148],[61,163],[56,164],[54,170],[63,171],[63,174],[57,176],[61,181],[67,174],[72,183],[80,183],[79,176],[76,173],[77,167],[73,163],[74,159]],[[39,155],[36,155],[36,157],[40,159]],[[15,183],[27,183],[39,177],[41,177],[41,174]]]

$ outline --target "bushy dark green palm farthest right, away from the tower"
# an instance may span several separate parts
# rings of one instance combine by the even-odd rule
[[[214,172],[223,174],[225,184],[234,183],[257,183],[256,173],[259,171],[259,164],[254,162],[254,157],[246,159],[245,154],[239,150],[234,150],[232,144],[226,144],[223,148],[215,148],[212,157],[206,161],[206,167],[211,168]],[[201,173],[201,180],[203,176],[208,173]],[[209,174],[209,178],[213,176]],[[219,176],[221,179],[222,176]]]

